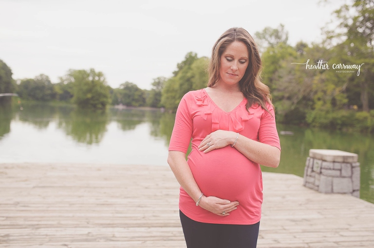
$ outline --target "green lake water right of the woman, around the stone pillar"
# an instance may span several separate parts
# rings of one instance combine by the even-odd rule
[[[361,167],[360,198],[374,202],[374,137],[360,133],[344,133],[317,128],[278,125],[293,136],[281,136],[281,163],[278,168],[262,167],[262,171],[291,173],[303,177],[309,149],[333,149],[358,154]]]

